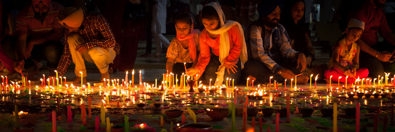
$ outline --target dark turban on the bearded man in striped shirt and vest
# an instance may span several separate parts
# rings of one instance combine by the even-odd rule
[[[259,18],[267,17],[276,9],[277,6],[281,9],[283,1],[284,0],[262,0],[258,4]]]

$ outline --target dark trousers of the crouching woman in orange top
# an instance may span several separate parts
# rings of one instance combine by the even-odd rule
[[[211,85],[214,85],[216,82],[217,74],[216,72],[218,71],[218,67],[221,65],[221,62],[219,62],[219,57],[211,53],[210,55],[210,61],[206,66],[206,70],[203,72],[201,75],[200,79],[203,82],[206,82],[207,84],[211,80]],[[235,79],[235,85],[238,83],[238,79],[240,78],[241,75],[241,61],[240,59],[238,60],[237,64],[237,72],[234,74],[231,70],[229,70],[230,73],[228,73],[228,70],[225,69],[225,74],[223,75],[223,83],[226,83],[226,78],[232,78]]]

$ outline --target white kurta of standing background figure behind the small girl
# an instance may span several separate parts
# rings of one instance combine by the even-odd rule
[[[166,33],[166,3],[167,0],[155,0],[158,3],[152,9],[152,27],[154,33]]]

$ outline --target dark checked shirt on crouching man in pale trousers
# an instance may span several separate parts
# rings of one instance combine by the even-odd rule
[[[70,62],[72,60],[69,44],[67,42],[70,33],[71,32],[69,32],[69,30],[64,30],[63,54],[59,60],[57,68],[60,75],[63,75],[66,72],[66,69],[70,65]],[[110,24],[101,14],[84,11],[84,19],[82,21],[78,34],[85,39],[84,45],[87,50],[93,47],[100,47],[103,49],[114,48],[114,51],[119,54],[120,46],[115,40],[113,31],[110,28]]]

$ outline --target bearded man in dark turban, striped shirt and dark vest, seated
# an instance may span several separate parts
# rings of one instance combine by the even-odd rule
[[[273,76],[272,81],[290,81],[306,68],[305,55],[291,48],[287,31],[278,24],[281,6],[277,0],[259,4],[259,19],[246,32],[249,61],[242,71],[244,79],[249,77],[257,84],[267,83],[270,76]],[[296,80],[298,84],[306,84],[308,77],[300,75]]]

